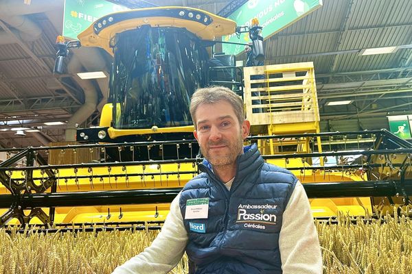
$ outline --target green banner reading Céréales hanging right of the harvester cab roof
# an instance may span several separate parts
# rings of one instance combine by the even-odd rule
[[[252,19],[258,18],[264,39],[269,38],[284,27],[294,23],[299,18],[306,16],[322,5],[322,0],[249,0],[228,18],[235,21],[238,26],[250,27]],[[225,42],[249,42],[249,33],[223,36]],[[238,54],[244,51],[243,45],[222,44],[225,54]]]

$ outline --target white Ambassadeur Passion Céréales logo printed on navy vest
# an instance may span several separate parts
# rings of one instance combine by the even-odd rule
[[[266,229],[265,225],[276,225],[276,205],[242,205],[238,206],[236,223],[244,223],[244,227]]]

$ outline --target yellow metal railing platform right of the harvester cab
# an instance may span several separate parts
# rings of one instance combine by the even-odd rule
[[[319,132],[312,62],[244,68],[244,103],[252,134]],[[295,141],[297,151],[310,151],[307,138]],[[267,153],[280,152],[274,140],[262,147]]]

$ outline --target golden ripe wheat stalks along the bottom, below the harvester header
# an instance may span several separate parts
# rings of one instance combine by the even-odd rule
[[[315,221],[324,273],[412,273],[412,221],[406,216]],[[0,273],[111,273],[144,250],[157,230],[16,233],[0,230]],[[187,273],[187,257],[170,273]]]

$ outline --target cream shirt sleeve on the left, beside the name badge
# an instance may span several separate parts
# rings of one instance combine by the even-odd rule
[[[168,273],[179,263],[188,239],[179,207],[179,198],[180,193],[170,204],[170,212],[152,245],[118,266],[112,274]]]

